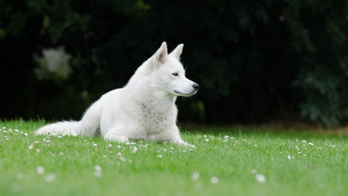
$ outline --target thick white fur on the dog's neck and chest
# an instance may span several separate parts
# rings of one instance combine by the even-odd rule
[[[152,89],[151,74],[147,74],[147,63],[143,63],[134,73],[128,84],[127,91],[122,93],[122,100],[132,99],[132,107],[125,106],[124,110],[142,122],[144,136],[167,130],[172,123],[176,123],[176,96]]]

